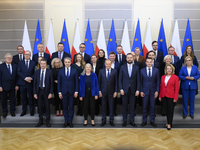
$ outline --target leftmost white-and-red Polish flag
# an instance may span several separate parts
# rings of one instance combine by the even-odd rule
[[[25,20],[25,24],[24,24],[22,46],[24,47],[23,53],[25,53],[26,50],[30,51],[31,52],[31,58],[32,58],[32,48],[31,48],[31,42],[30,42],[30,38],[29,38],[29,34],[28,34],[28,28],[27,28],[26,20]]]

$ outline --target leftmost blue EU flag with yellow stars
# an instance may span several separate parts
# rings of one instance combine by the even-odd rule
[[[40,31],[40,21],[38,20],[36,33],[35,33],[33,55],[38,53],[37,45],[40,43],[42,43],[42,36],[41,36],[41,31]]]

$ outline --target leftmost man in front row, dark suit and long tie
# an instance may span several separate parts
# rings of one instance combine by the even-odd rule
[[[45,58],[40,61],[40,69],[36,70],[34,75],[33,93],[34,98],[38,100],[39,122],[35,127],[43,125],[43,105],[46,114],[46,126],[50,124],[50,101],[53,93],[53,76],[52,71],[47,69],[47,61]]]

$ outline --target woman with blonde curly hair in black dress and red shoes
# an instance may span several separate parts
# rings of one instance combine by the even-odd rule
[[[54,91],[56,116],[63,116],[63,104],[62,104],[62,100],[58,96],[58,90],[57,90],[58,72],[63,67],[63,64],[59,58],[54,58],[51,62],[51,67],[52,67],[52,74],[53,74],[53,81],[54,81],[53,91]]]

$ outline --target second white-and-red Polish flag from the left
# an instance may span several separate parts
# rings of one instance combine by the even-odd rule
[[[52,53],[55,51],[56,51],[56,48],[55,48],[53,26],[52,26],[52,20],[51,20],[50,26],[49,26],[49,35],[48,35],[48,40],[47,40],[46,53],[48,53],[51,57]]]

